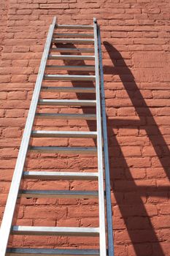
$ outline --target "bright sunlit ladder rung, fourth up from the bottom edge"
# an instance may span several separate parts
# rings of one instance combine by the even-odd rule
[[[98,179],[98,173],[71,173],[71,172],[48,172],[48,171],[28,171],[23,172],[24,178],[37,178],[41,180],[87,180],[96,181]]]

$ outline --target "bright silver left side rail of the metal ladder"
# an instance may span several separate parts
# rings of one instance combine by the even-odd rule
[[[42,80],[44,77],[45,66],[47,63],[47,57],[50,52],[50,45],[53,39],[53,31],[55,28],[56,18],[53,18],[53,23],[50,25],[50,29],[47,34],[47,40],[45,43],[45,49],[42,54],[42,61],[39,67],[39,73],[36,78],[36,84],[34,88],[34,94],[31,99],[31,105],[28,111],[28,117],[26,120],[26,127],[23,132],[23,138],[20,144],[20,151],[18,153],[18,159],[15,165],[14,174],[12,177],[12,183],[9,189],[9,195],[7,198],[7,204],[4,210],[4,217],[1,222],[0,229],[0,255],[5,256],[7,251],[7,243],[9,240],[9,234],[12,228],[12,219],[15,213],[15,206],[18,199],[18,192],[20,189],[20,181],[23,176],[23,167],[26,161],[26,154],[28,151],[28,144],[31,137],[31,129],[34,124],[34,116],[36,113],[36,106],[39,99],[39,93],[42,86]]]

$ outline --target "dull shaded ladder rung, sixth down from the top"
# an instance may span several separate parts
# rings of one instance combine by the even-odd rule
[[[84,66],[58,66],[58,65],[47,65],[46,69],[58,69],[58,70],[80,70],[80,71],[94,71],[95,66],[84,65]]]

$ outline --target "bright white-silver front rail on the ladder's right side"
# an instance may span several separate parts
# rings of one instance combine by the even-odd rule
[[[95,72],[96,72],[96,115],[97,115],[97,151],[98,151],[98,203],[99,203],[99,229],[100,229],[100,255],[107,255],[106,229],[105,229],[105,203],[104,203],[104,165],[102,152],[102,132],[101,132],[101,100],[100,82],[98,70],[98,39],[97,20],[93,18],[94,26],[94,48],[95,48]]]

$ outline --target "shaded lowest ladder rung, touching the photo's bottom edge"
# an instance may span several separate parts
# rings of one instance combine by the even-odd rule
[[[8,248],[7,256],[99,256],[97,249]]]

